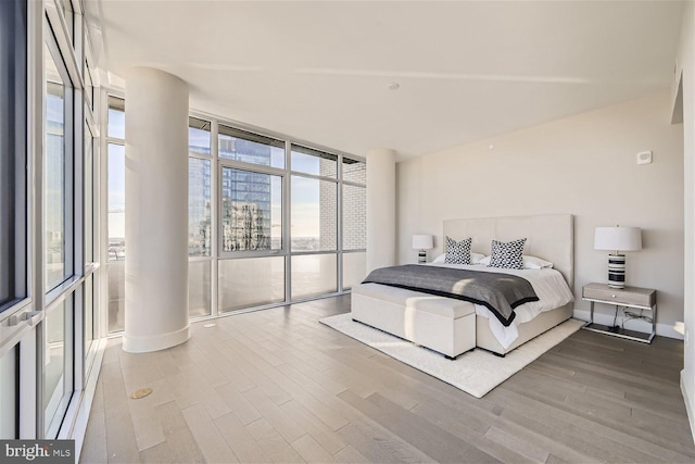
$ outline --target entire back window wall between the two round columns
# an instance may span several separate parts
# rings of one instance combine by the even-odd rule
[[[191,116],[190,317],[336,294],[364,278],[365,173],[354,156]]]

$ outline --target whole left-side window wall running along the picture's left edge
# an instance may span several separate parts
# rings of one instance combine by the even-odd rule
[[[70,438],[96,374],[89,43],[79,2],[0,2],[2,439]]]

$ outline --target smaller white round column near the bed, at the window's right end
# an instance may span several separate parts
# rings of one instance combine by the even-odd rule
[[[367,273],[395,259],[395,151],[367,152]]]

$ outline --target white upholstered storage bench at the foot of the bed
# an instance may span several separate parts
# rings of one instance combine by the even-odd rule
[[[354,321],[448,358],[456,358],[476,347],[476,310],[467,301],[377,284],[359,284],[352,288],[352,302]]]

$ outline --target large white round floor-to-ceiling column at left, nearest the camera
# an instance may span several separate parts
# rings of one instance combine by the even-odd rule
[[[126,78],[123,349],[163,350],[188,324],[188,86],[152,68]]]

